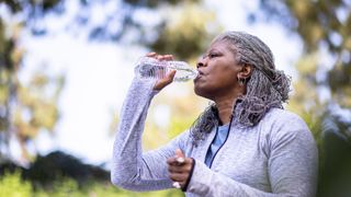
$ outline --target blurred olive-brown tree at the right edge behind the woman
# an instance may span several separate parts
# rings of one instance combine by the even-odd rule
[[[324,103],[324,115],[337,117],[336,111],[351,108],[351,3],[347,0],[317,1],[260,1],[265,19],[281,22],[291,32],[299,35],[304,44],[304,55],[299,67],[301,79],[315,90],[330,94],[324,101],[320,91],[319,101]],[[265,14],[270,13],[270,14]],[[251,18],[258,19],[258,15]],[[302,62],[301,61],[301,62]],[[308,61],[308,62],[306,62]],[[299,86],[301,88],[301,86]],[[310,90],[310,89],[309,89]],[[309,97],[304,97],[309,101]],[[339,109],[338,109],[339,108]],[[335,121],[348,125],[340,130],[350,139],[350,117],[335,118]]]

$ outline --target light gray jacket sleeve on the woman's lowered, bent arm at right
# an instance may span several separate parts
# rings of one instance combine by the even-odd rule
[[[306,124],[293,117],[283,124],[273,125],[272,130],[268,159],[270,193],[214,172],[200,161],[196,161],[186,192],[222,197],[315,196],[318,152]]]

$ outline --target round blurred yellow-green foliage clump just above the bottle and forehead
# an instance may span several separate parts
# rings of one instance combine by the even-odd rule
[[[214,12],[199,4],[184,3],[172,8],[172,14],[165,21],[158,38],[147,43],[147,46],[182,60],[197,58],[220,30],[215,19]]]

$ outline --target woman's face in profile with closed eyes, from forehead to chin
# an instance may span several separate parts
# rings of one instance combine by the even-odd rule
[[[215,100],[237,92],[237,80],[241,67],[237,65],[230,44],[225,40],[213,43],[197,62],[199,77],[194,80],[197,95]]]

